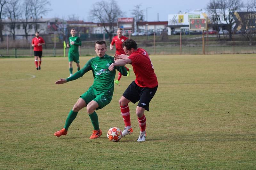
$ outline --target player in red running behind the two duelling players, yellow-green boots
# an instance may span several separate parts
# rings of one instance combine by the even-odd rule
[[[125,54],[122,44],[128,38],[122,35],[123,34],[123,29],[122,28],[118,28],[116,33],[117,33],[117,36],[113,37],[109,48],[110,48],[110,50],[113,50],[114,44],[116,44],[116,54],[117,55]],[[131,68],[127,68],[127,67],[125,67],[125,68],[127,69],[127,76],[129,76],[130,72],[131,72]],[[116,84],[119,84],[119,81],[120,81],[121,77],[122,77],[122,74],[119,72],[118,73],[118,78],[114,82]]]

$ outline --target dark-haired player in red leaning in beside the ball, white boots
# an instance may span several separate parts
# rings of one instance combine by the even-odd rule
[[[123,47],[126,55],[116,55],[115,63],[112,63],[108,67],[108,69],[112,71],[115,66],[132,64],[133,72],[136,76],[135,81],[132,81],[119,100],[121,114],[125,124],[122,136],[132,134],[133,132],[128,103],[136,103],[139,101],[136,114],[140,125],[140,136],[137,141],[143,142],[146,140],[146,117],[144,111],[149,110],[149,102],[156,93],[158,81],[147,51],[138,48],[136,42],[132,39],[125,40]]]

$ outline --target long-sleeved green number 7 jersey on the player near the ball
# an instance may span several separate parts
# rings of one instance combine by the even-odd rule
[[[107,54],[104,57],[94,57],[87,61],[80,71],[77,71],[74,75],[67,78],[67,81],[76,80],[89,70],[92,70],[94,81],[91,87],[97,91],[108,92],[108,94],[112,96],[114,92],[116,70],[124,76],[127,75],[127,69],[124,66],[115,67],[116,69],[109,71],[108,67],[114,62],[114,57]]]

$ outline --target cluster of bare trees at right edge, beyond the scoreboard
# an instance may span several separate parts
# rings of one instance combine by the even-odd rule
[[[244,29],[241,33],[247,40],[252,41],[255,37],[256,0],[249,0],[246,4],[241,0],[211,0],[206,6],[206,11],[211,16],[210,20],[217,31],[218,39],[221,39],[220,26],[222,24],[227,25],[229,40],[231,40],[234,24],[239,23]],[[243,16],[239,16],[239,13],[243,13]],[[224,21],[220,18],[224,18]]]

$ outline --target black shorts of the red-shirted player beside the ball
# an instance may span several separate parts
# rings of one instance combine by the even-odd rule
[[[138,106],[149,111],[149,102],[154,97],[157,87],[158,86],[154,88],[140,87],[135,83],[135,81],[132,81],[132,83],[124,91],[123,96],[132,103],[137,103],[140,101]]]

